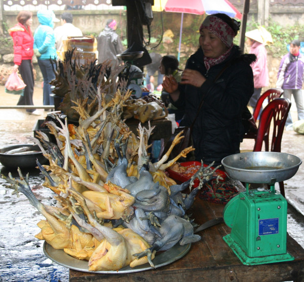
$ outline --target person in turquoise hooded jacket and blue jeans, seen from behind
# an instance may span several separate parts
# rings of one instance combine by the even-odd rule
[[[56,67],[54,21],[59,21],[51,10],[37,12],[40,25],[34,32],[34,54],[43,76],[43,104],[54,105],[50,82],[55,79],[53,68]]]

